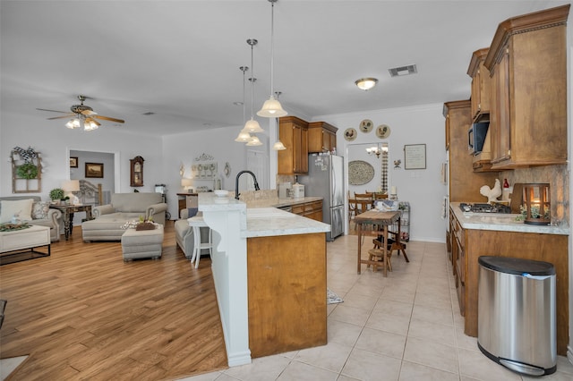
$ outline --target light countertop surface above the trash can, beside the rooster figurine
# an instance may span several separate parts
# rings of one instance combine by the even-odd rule
[[[569,235],[569,226],[524,224],[523,221],[516,221],[519,215],[514,214],[462,212],[459,204],[451,202],[449,207],[464,229]]]

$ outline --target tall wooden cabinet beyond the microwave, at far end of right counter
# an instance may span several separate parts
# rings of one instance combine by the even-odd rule
[[[473,157],[467,149],[467,131],[472,123],[469,100],[444,103],[449,140],[449,201],[486,202],[480,194],[483,185],[493,187],[497,173],[475,173]]]

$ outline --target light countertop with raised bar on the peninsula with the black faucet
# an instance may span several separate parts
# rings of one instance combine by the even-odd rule
[[[295,204],[300,204],[320,199],[322,198],[289,199],[285,201],[295,201]],[[276,207],[282,204],[264,205],[265,202],[275,203],[277,200],[278,199],[258,200],[254,201],[255,206],[252,206],[251,202],[246,204],[244,201],[235,199],[231,193],[225,198],[218,198],[213,193],[205,193],[199,195],[199,210],[203,212],[240,211],[244,216],[244,221],[241,223],[241,230],[247,238],[326,233],[330,231],[329,224],[323,224],[304,216],[296,216],[293,213],[280,210]],[[295,204],[285,204],[284,206]]]

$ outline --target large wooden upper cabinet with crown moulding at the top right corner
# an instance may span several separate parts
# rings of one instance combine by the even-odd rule
[[[492,168],[567,162],[569,4],[503,21],[484,66],[492,75]]]

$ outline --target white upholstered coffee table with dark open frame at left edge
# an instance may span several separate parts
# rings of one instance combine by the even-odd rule
[[[50,256],[50,228],[31,225],[29,228],[0,232],[0,265],[21,260]],[[47,252],[35,250],[47,246]]]

